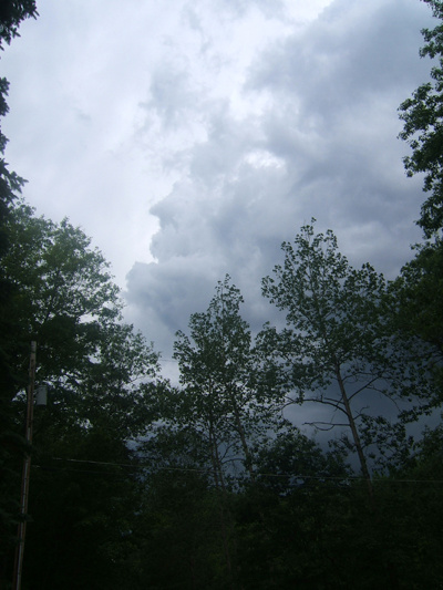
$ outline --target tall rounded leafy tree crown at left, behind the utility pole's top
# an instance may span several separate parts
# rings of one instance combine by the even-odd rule
[[[54,224],[19,203],[8,230],[11,247],[3,269],[18,290],[9,310],[18,324],[10,339],[16,372],[30,340],[37,340],[40,373],[59,381],[89,362],[101,327],[119,319],[119,289],[102,253],[66,219]]]

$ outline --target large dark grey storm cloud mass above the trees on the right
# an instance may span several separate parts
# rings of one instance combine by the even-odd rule
[[[272,315],[260,279],[312,216],[319,230],[334,229],[351,262],[398,272],[420,236],[422,195],[403,172],[396,108],[427,76],[418,51],[429,21],[412,0],[337,0],[256,55],[241,89],[250,114],[239,117],[227,100],[205,103],[206,137],[186,149],[187,176],[152,209],[156,262],[127,277],[131,317],[161,334],[161,349],[171,351],[175,330],[207,308],[226,272],[258,329]],[[156,102],[176,81],[176,113],[189,95],[174,75]]]

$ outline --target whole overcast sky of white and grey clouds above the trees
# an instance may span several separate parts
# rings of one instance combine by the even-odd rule
[[[311,217],[395,276],[420,239],[399,104],[429,76],[420,0],[41,0],[2,54],[24,196],[112,262],[171,359],[225,273],[244,315]],[[167,361],[166,361],[167,363]],[[166,364],[165,363],[165,364]]]

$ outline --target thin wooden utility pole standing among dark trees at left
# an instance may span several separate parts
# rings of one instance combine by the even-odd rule
[[[37,342],[31,342],[31,356],[29,361],[29,383],[28,383],[28,410],[27,410],[27,452],[23,459],[23,474],[21,479],[21,500],[20,500],[20,516],[18,538],[19,544],[16,549],[16,562],[14,562],[14,577],[13,577],[13,590],[21,589],[21,573],[23,568],[23,553],[24,553],[24,537],[27,534],[27,518],[28,518],[28,499],[29,499],[29,478],[31,472],[31,453],[30,446],[32,444],[32,423],[33,423],[33,410],[34,410],[34,385],[35,385],[35,350]]]

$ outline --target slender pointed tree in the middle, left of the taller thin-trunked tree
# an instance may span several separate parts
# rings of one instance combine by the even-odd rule
[[[239,313],[243,297],[227,276],[206,312],[193,313],[190,338],[177,332],[174,358],[181,370],[189,424],[206,433],[215,474],[223,457],[240,459],[254,477],[251,441],[269,424],[271,408],[257,390],[257,360],[249,325]]]

